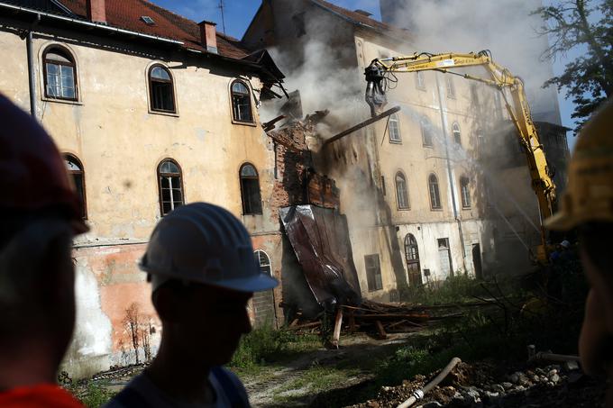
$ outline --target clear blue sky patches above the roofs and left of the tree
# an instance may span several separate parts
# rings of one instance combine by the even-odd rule
[[[366,10],[372,14],[372,18],[380,20],[378,0],[329,1],[334,3],[334,5],[340,5],[350,10]],[[152,3],[188,17],[197,23],[203,20],[215,22],[217,23],[218,31],[223,32],[225,27],[226,34],[240,39],[249,23],[251,23],[253,15],[258,11],[261,0],[224,0],[223,21],[219,7],[220,0],[152,0]],[[567,58],[572,58],[572,54],[567,56]],[[558,59],[554,61],[554,74],[558,75],[562,73],[566,62],[567,59]],[[575,122],[571,118],[574,109],[572,102],[565,100],[563,95],[558,95],[558,101],[560,104],[560,113],[562,115],[562,124],[568,128],[574,129]],[[571,149],[576,139],[572,133],[572,131],[568,132],[568,142]]]

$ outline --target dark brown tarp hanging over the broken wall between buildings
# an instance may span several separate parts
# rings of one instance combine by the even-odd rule
[[[326,309],[360,304],[360,282],[344,217],[315,205],[284,207],[279,215],[316,302]]]

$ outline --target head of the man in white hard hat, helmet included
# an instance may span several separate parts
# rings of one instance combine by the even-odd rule
[[[208,366],[227,363],[251,331],[246,306],[252,293],[277,286],[256,265],[242,223],[213,204],[183,205],[166,215],[140,267],[151,277],[163,339]]]

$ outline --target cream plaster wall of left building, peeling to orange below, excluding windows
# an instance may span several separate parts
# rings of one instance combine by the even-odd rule
[[[25,41],[11,27],[19,28],[19,23],[0,21],[5,56],[0,92],[29,110]],[[279,224],[270,209],[274,154],[253,97],[255,122],[232,120],[233,80],[241,77],[252,91],[261,86],[258,78],[243,77],[238,66],[215,66],[211,59],[185,52],[86,32],[43,26],[37,30],[37,118],[59,150],[76,156],[85,170],[91,231],[75,242],[78,323],[65,367],[72,376],[86,376],[134,361],[125,323],[132,304],[138,307],[143,331],[146,326],[150,332],[151,348],[157,347],[160,322],[136,263],[160,220],[157,167],[162,159],[174,159],[180,166],[186,203],[219,204],[241,217],[254,236],[255,249],[268,253],[275,276],[280,276]],[[51,45],[68,50],[76,61],[77,102],[42,96],[42,52]],[[152,64],[172,74],[176,114],[149,109],[147,75]],[[259,172],[261,215],[242,215],[239,168],[245,162]],[[140,352],[142,360],[144,350]]]

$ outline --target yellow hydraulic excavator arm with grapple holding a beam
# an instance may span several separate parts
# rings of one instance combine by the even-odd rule
[[[470,74],[456,72],[456,68],[482,67],[488,77],[477,77]],[[419,53],[407,57],[394,57],[391,59],[374,59],[366,68],[364,75],[368,83],[366,87],[366,102],[371,106],[374,116],[379,109],[387,103],[386,92],[389,81],[395,80],[395,74],[401,72],[417,72],[435,70],[452,73],[467,79],[479,81],[495,87],[502,95],[508,115],[515,124],[519,141],[526,153],[528,169],[532,178],[532,188],[538,199],[541,214],[541,224],[545,218],[554,213],[555,185],[547,165],[543,145],[539,141],[535,124],[532,121],[530,108],[526,101],[524,83],[519,77],[511,74],[507,68],[500,67],[492,59],[489,51],[480,51],[469,54],[429,54]],[[511,95],[508,100],[505,90]],[[546,263],[545,233],[541,226],[542,245],[537,250],[537,258]]]

